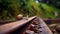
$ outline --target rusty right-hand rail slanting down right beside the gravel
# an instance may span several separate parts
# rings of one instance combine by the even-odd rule
[[[47,26],[47,24],[41,18],[39,20],[40,20],[40,25],[43,30],[42,34],[53,34],[52,31]]]

